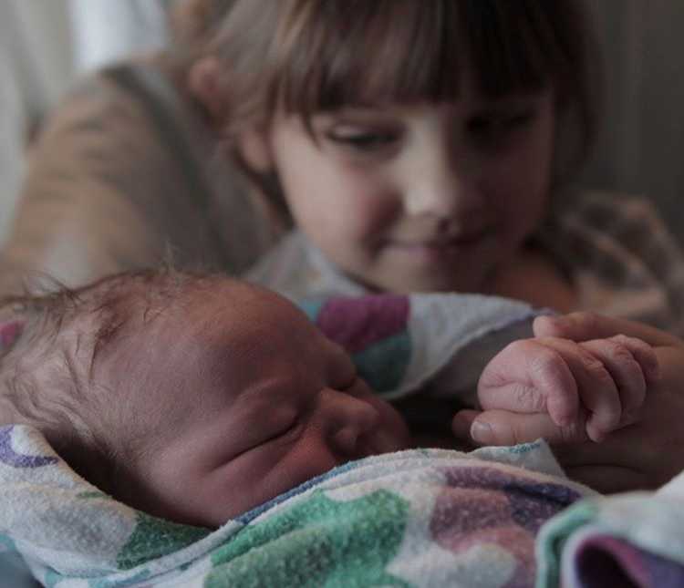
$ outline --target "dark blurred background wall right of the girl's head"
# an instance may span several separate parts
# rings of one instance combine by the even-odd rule
[[[593,0],[602,133],[586,186],[643,194],[684,245],[684,3]]]

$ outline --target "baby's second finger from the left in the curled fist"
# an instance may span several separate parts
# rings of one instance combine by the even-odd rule
[[[618,427],[622,416],[620,396],[610,372],[589,349],[573,341],[554,337],[538,340],[563,356],[575,377],[583,406],[592,413],[589,418],[591,427],[587,428],[586,432],[593,441],[600,441],[607,432]],[[557,394],[551,393],[549,397],[551,418],[554,418],[554,413],[551,411],[551,401],[554,396]],[[567,423],[558,422],[555,418],[554,422],[560,426],[567,426]]]

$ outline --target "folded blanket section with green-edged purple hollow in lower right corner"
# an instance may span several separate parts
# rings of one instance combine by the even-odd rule
[[[656,492],[582,500],[539,535],[539,588],[684,586],[684,473]]]

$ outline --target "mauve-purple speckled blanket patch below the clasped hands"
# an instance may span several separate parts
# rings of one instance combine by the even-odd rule
[[[430,521],[435,542],[454,553],[494,544],[511,553],[517,566],[507,588],[534,585],[534,538],[558,511],[580,498],[560,484],[541,483],[492,468],[443,470]]]

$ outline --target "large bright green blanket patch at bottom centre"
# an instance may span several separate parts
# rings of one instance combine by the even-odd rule
[[[204,586],[277,586],[286,579],[302,587],[409,587],[385,571],[403,541],[408,511],[409,502],[387,490],[346,501],[316,490],[214,552]]]

